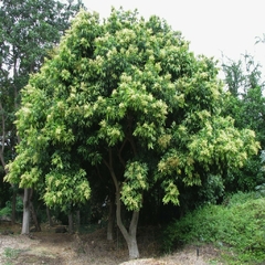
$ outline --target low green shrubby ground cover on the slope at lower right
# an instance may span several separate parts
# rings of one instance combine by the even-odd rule
[[[259,192],[239,192],[226,204],[203,206],[171,223],[163,247],[212,243],[222,248],[227,264],[261,263],[265,261],[264,221],[265,198]]]

